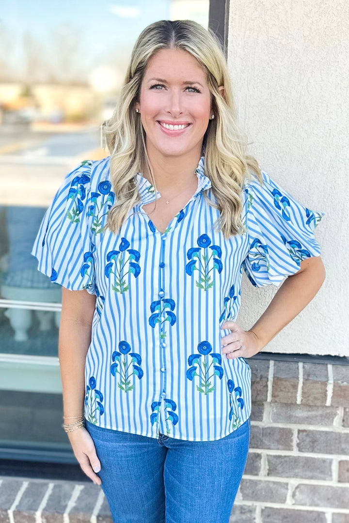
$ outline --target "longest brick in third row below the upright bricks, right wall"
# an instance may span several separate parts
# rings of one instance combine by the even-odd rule
[[[268,476],[332,480],[332,460],[305,456],[267,456]]]

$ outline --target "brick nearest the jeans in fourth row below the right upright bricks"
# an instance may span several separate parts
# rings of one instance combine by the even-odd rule
[[[285,503],[288,485],[281,481],[250,480],[243,477],[240,493],[244,501]]]

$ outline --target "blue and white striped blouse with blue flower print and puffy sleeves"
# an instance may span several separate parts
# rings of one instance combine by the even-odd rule
[[[32,249],[53,282],[96,295],[85,417],[154,438],[227,436],[251,411],[250,367],[220,349],[230,332],[221,325],[238,315],[242,268],[257,287],[278,285],[320,255],[313,229],[323,214],[263,172],[262,186],[254,178],[242,192],[247,232],[226,240],[212,229],[219,211],[204,198],[217,201],[202,157],[197,190],[164,233],[142,210],[155,192],[137,174],[141,202],[114,234],[104,231],[115,200],[109,161],[66,176]]]

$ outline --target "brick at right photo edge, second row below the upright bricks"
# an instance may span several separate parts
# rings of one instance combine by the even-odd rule
[[[329,430],[298,430],[298,450],[322,454],[349,454],[349,434]]]

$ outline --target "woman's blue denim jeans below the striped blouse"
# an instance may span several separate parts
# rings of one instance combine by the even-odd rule
[[[114,523],[228,523],[245,468],[250,419],[216,441],[158,439],[86,421]]]

